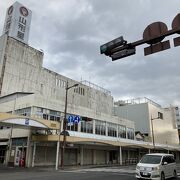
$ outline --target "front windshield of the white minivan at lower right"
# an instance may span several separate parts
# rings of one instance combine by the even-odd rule
[[[162,156],[158,155],[145,155],[142,157],[140,163],[145,164],[159,164],[161,162]]]

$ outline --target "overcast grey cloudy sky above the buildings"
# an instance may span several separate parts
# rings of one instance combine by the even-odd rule
[[[0,0],[0,32],[7,8],[15,0]],[[19,0],[32,10],[29,44],[44,51],[44,67],[69,78],[88,80],[116,100],[147,97],[168,106],[180,105],[180,47],[111,61],[100,45],[123,36],[142,39],[144,29],[162,21],[168,29],[180,13],[179,0]]]

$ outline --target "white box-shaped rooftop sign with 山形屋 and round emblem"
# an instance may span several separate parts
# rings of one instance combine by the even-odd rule
[[[32,11],[15,2],[6,12],[3,34],[28,43]]]

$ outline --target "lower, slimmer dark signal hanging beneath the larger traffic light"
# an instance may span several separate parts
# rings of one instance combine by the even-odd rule
[[[112,54],[111,58],[112,58],[112,61],[115,61],[117,59],[121,59],[121,58],[124,58],[127,56],[131,56],[135,53],[136,53],[136,49],[135,49],[135,47],[132,47],[130,49],[124,49],[124,50],[121,50],[121,51],[118,51],[118,52]]]

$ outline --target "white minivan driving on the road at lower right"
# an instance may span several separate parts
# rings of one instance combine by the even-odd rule
[[[176,162],[172,154],[146,154],[136,166],[137,179],[164,180],[171,177],[177,177]]]

